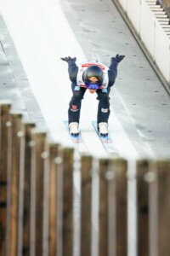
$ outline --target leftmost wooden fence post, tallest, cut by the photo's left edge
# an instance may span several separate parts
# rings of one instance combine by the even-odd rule
[[[0,255],[6,255],[7,247],[7,187],[8,153],[11,132],[10,104],[0,104]]]

